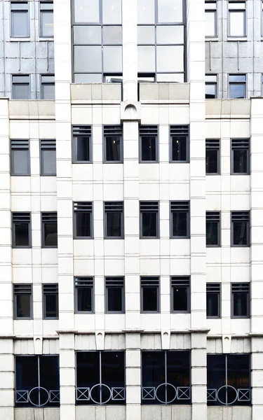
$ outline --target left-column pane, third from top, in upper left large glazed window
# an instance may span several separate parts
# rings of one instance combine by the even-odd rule
[[[74,46],[74,71],[79,73],[102,71],[102,48],[93,45]]]

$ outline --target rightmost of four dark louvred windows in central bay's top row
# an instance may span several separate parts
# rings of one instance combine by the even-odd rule
[[[189,125],[170,125],[170,162],[189,162]]]

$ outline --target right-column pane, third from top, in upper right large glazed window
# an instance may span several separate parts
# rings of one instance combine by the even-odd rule
[[[157,45],[157,71],[184,71],[184,47],[183,45],[166,46]]]

